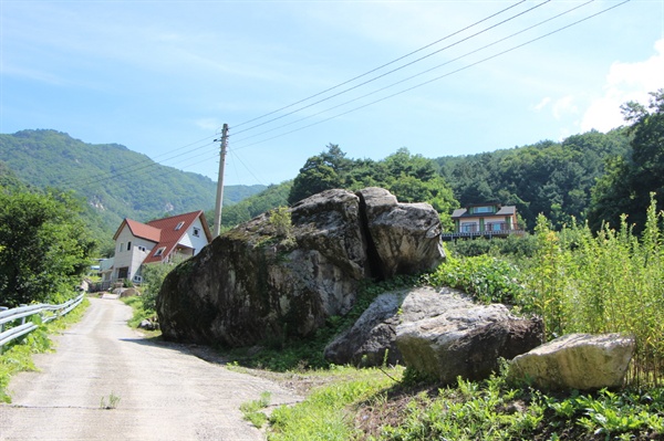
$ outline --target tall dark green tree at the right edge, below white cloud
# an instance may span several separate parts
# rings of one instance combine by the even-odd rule
[[[636,232],[645,228],[650,193],[664,200],[664,88],[652,92],[646,106],[630,102],[623,105],[623,116],[631,123],[631,151],[609,162],[606,174],[593,189],[589,223],[598,230],[602,222],[620,225],[620,216]],[[662,209],[662,202],[657,209]]]

